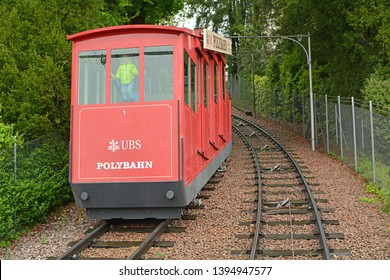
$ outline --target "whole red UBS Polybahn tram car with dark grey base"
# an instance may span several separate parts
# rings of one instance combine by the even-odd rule
[[[231,152],[229,41],[155,25],[100,28],[68,40],[69,177],[77,205],[96,219],[180,218]],[[121,77],[122,64],[132,72]]]

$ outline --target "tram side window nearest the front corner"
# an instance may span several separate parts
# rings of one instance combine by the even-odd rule
[[[184,52],[184,101],[196,112],[196,64]]]

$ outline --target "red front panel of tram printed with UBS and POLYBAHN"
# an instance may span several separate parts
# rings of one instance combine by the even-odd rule
[[[73,182],[177,179],[177,117],[170,105],[85,107],[75,118]]]

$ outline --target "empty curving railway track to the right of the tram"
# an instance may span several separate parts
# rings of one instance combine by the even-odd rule
[[[270,134],[237,115],[233,116],[233,130],[250,150],[249,165],[254,169],[249,172],[250,180],[258,190],[256,199],[248,202],[255,205],[255,209],[248,210],[255,218],[242,222],[253,231],[237,236],[251,240],[250,248],[232,253],[248,255],[252,260],[271,257],[329,260],[332,255],[348,255],[348,250],[329,248],[329,239],[343,239],[344,235],[325,231],[324,224],[335,225],[338,221],[322,219],[321,213],[331,210],[317,206],[318,202],[326,201],[313,195],[302,171],[303,163],[297,162]]]

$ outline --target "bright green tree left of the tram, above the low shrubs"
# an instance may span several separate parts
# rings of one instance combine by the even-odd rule
[[[0,14],[4,122],[27,138],[66,129],[70,49],[59,18],[38,0],[2,3]]]

